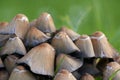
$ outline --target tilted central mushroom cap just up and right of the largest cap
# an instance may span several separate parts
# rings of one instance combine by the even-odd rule
[[[57,33],[52,39],[51,45],[56,49],[57,54],[59,53],[72,53],[80,51],[78,47],[72,42],[68,35],[61,31]]]

